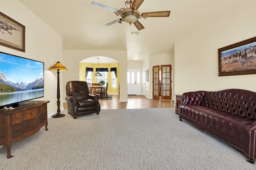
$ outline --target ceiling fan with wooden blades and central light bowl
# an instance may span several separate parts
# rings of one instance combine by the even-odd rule
[[[115,12],[115,14],[117,16],[121,16],[122,18],[112,21],[110,23],[105,24],[105,26],[109,26],[112,25],[116,22],[118,23],[122,23],[122,21],[125,21],[127,23],[130,23],[130,25],[132,25],[132,23],[134,23],[134,25],[136,26],[136,28],[138,30],[144,29],[143,25],[138,21],[138,19],[140,18],[148,18],[148,17],[168,17],[170,15],[170,11],[159,11],[159,12],[144,12],[141,14],[140,16],[140,12],[138,11],[138,8],[140,7],[140,5],[142,4],[144,0],[127,0],[124,4],[126,6],[126,8],[121,8],[120,10],[116,10],[114,8],[108,7],[106,5],[102,5],[99,4],[97,2],[92,2],[92,5],[94,6],[98,6],[101,8],[105,8],[107,10],[112,10]],[[130,5],[130,7],[128,7],[127,5]]]

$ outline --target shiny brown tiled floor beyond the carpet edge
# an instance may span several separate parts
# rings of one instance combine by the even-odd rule
[[[128,102],[119,102],[119,95],[112,95],[112,100],[100,100],[101,109],[142,109],[158,107],[175,107],[173,100],[148,99],[141,95],[128,95]],[[67,103],[63,103],[67,109]]]

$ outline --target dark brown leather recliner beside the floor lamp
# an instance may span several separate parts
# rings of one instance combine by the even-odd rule
[[[89,94],[89,87],[84,81],[69,81],[66,84],[66,101],[68,103],[68,113],[78,115],[89,113],[100,113],[99,95]]]

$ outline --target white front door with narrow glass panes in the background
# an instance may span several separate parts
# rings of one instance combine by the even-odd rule
[[[128,70],[128,95],[141,95],[141,70]]]

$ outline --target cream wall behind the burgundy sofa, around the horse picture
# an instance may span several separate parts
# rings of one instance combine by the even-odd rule
[[[175,94],[240,88],[256,92],[256,74],[218,76],[218,49],[256,36],[256,1],[241,1],[175,43]]]

